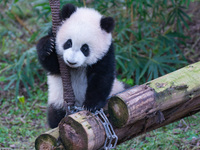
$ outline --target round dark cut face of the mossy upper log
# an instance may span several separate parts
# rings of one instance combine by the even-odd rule
[[[108,113],[112,124],[116,127],[121,127],[128,121],[128,108],[120,97],[114,96],[109,100]]]

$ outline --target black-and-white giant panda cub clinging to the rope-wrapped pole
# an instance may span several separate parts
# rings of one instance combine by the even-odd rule
[[[105,106],[110,95],[125,88],[115,77],[113,18],[72,4],[66,4],[60,16],[62,24],[55,39],[49,32],[37,44],[39,62],[48,72],[48,123],[51,128],[57,127],[66,113],[57,54],[71,67],[75,106],[94,112]]]

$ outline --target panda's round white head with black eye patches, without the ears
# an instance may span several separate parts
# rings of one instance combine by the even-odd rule
[[[65,63],[77,68],[95,64],[108,51],[111,33],[100,27],[102,15],[90,8],[77,8],[65,20],[56,36],[57,53]]]

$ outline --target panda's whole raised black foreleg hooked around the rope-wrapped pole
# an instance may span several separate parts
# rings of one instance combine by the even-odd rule
[[[36,48],[39,62],[43,68],[51,74],[60,74],[54,37],[52,35],[47,35],[41,38]]]

